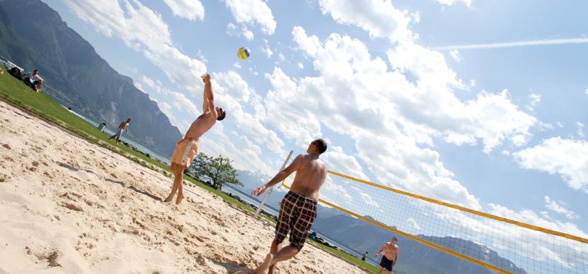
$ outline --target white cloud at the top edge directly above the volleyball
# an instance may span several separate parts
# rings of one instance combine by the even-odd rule
[[[276,31],[271,9],[261,0],[225,0],[234,20],[244,25],[259,25],[261,31],[272,35]]]

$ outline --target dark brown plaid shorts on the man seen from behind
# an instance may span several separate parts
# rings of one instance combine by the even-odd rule
[[[279,243],[283,242],[290,231],[290,246],[298,250],[302,249],[315,218],[317,218],[317,201],[288,191],[280,206],[276,240]]]

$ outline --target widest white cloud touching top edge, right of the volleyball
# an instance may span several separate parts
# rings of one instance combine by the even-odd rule
[[[387,37],[392,41],[412,39],[409,17],[388,0],[320,0],[323,14],[330,14],[340,24],[356,25],[371,37]]]

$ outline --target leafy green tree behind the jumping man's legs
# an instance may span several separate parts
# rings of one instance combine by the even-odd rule
[[[193,175],[215,189],[220,189],[223,184],[243,184],[237,179],[237,170],[231,165],[232,160],[222,156],[210,157],[204,153],[198,153],[192,161],[192,165],[186,169],[186,173]]]

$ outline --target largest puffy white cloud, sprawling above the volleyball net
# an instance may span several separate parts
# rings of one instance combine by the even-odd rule
[[[461,102],[451,89],[461,81],[443,54],[412,42],[388,52],[389,68],[351,37],[334,33],[321,41],[301,27],[293,28],[292,35],[319,76],[293,80],[280,68],[267,74],[273,89],[266,110],[275,121],[266,122],[296,143],[320,133],[323,126],[351,136],[358,159],[385,184],[480,208],[477,198],[451,179],[439,153],[422,145],[432,146],[434,137],[442,136],[457,145],[481,142],[490,153],[514,136],[519,143],[526,140],[536,123],[511,103],[507,90],[482,91]],[[417,76],[416,83],[407,80],[407,71]],[[286,117],[297,118],[281,129]]]

